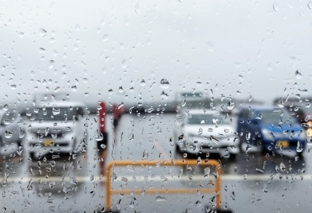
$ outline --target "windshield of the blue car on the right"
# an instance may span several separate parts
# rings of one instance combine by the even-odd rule
[[[282,121],[284,123],[287,120],[290,120],[292,122],[296,122],[296,120],[293,119],[293,116],[290,113],[288,113],[287,111],[283,112],[283,116],[281,116],[280,112],[273,112],[272,110],[260,111],[259,113],[262,117],[261,122],[263,124],[278,124],[278,123],[280,123],[280,121]]]

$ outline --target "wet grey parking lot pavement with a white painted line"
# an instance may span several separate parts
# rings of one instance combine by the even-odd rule
[[[88,115],[88,117],[90,119],[86,122],[89,124],[94,122],[94,118],[98,118],[96,115]],[[185,159],[188,161],[190,159],[178,152],[175,145],[170,142],[176,130],[176,114],[174,113],[164,113],[164,115],[146,113],[141,116],[123,114],[114,128],[111,120],[106,119],[108,146],[104,154],[97,151],[96,135],[93,132],[98,124],[93,125],[88,130],[90,140],[85,153],[70,160],[68,156],[50,159],[47,162],[41,160],[40,175],[37,160],[30,162],[29,159],[23,159],[22,163],[19,163],[22,158],[19,155],[2,158],[2,186],[4,186],[3,181],[7,179],[7,186],[3,187],[2,191],[2,205],[7,210],[16,212],[46,211],[45,205],[49,205],[51,211],[82,212],[81,207],[77,205],[82,202],[86,212],[99,211],[103,210],[106,202],[105,165],[108,162],[141,159],[155,161]],[[198,156],[202,160],[206,158],[206,154],[192,157],[197,159]],[[207,158],[220,160],[222,174],[219,174],[221,176],[219,193],[221,193],[222,209],[246,212],[246,208],[251,208],[253,210],[250,212],[278,212],[281,209],[296,211],[298,205],[307,210],[310,208],[308,199],[292,198],[295,205],[290,205],[290,198],[287,199],[287,197],[292,195],[286,193],[295,190],[309,196],[312,171],[309,165],[311,155],[307,151],[304,151],[299,158],[287,151],[283,155],[276,154],[275,156],[266,156],[262,153],[245,154],[241,151],[235,158],[218,154],[211,154]],[[181,169],[182,174],[180,174]],[[133,210],[136,212],[168,212],[169,210],[170,212],[185,212],[186,210],[205,212],[206,206],[212,208],[211,204],[215,201],[211,199],[214,194],[144,193],[144,189],[186,188],[192,190],[192,188],[201,188],[201,184],[207,187],[205,185],[209,180],[215,178],[213,169],[210,178],[204,177],[204,169],[205,167],[192,166],[192,171],[190,171],[187,166],[156,165],[114,167],[113,171],[116,176],[113,178],[113,188],[141,189],[142,193],[113,195],[112,209],[117,210],[118,207],[121,212]],[[8,196],[14,199],[7,200]],[[19,199],[23,200],[24,205],[16,205],[16,200]],[[183,200],[185,202],[181,203]],[[275,202],[269,202],[271,200]],[[66,206],[63,205],[64,202]],[[68,205],[69,202],[72,204]],[[173,205],[174,203],[178,205]],[[263,203],[266,205],[263,206]],[[274,203],[279,203],[279,206],[275,206]]]

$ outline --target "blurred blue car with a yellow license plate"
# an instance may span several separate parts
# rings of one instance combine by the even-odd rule
[[[238,135],[243,152],[296,152],[306,147],[306,134],[285,108],[245,106],[238,113]]]

